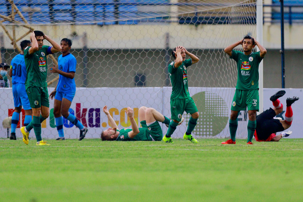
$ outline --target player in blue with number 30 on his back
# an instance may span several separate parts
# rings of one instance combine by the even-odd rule
[[[26,66],[23,51],[27,46],[32,46],[32,42],[29,40],[23,40],[21,41],[20,46],[21,53],[12,59],[11,69],[9,71],[9,76],[12,78],[15,105],[15,111],[12,115],[12,132],[11,136],[9,137],[11,140],[16,140],[16,127],[19,122],[22,106],[25,111],[24,126],[27,126],[32,121],[32,108],[29,104],[28,96],[25,91]]]

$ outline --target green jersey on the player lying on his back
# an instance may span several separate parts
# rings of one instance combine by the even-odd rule
[[[139,128],[139,133],[134,137],[130,138],[128,136],[128,132],[132,131],[131,128],[124,128],[121,130],[117,130],[119,133],[116,141],[152,141],[149,133],[146,131],[147,128]]]

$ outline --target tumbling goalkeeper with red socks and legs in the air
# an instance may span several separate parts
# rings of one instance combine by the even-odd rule
[[[257,127],[255,130],[256,141],[279,141],[282,137],[288,137],[291,131],[281,133],[276,135],[276,132],[284,131],[291,126],[292,122],[292,108],[291,104],[297,101],[299,98],[287,98],[286,99],[286,113],[285,120],[274,119],[277,114],[283,111],[283,104],[278,98],[282,97],[285,91],[278,91],[276,94],[270,97],[274,108],[269,108],[268,110],[259,114],[256,118]]]

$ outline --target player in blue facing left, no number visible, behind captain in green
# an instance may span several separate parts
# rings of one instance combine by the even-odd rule
[[[62,55],[58,58],[58,68],[51,67],[49,72],[58,73],[59,81],[54,91],[51,92],[49,97],[54,101],[54,116],[59,137],[56,140],[65,140],[63,132],[63,118],[73,123],[80,129],[81,141],[88,129],[82,125],[82,123],[72,114],[68,113],[69,107],[72,104],[72,100],[76,92],[75,84],[75,71],[76,71],[76,58],[69,52],[72,47],[72,40],[63,38],[60,42]]]

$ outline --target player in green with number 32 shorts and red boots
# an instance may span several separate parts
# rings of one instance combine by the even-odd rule
[[[242,45],[243,51],[233,50],[236,46]],[[253,52],[252,49],[258,46],[260,51]],[[266,54],[266,49],[254,38],[246,35],[241,41],[229,45],[224,49],[231,59],[237,62],[238,79],[235,95],[231,104],[229,119],[230,139],[221,144],[236,144],[236,131],[238,127],[239,111],[248,109],[248,136],[247,144],[251,140],[256,129],[256,114],[259,111],[259,64]]]

